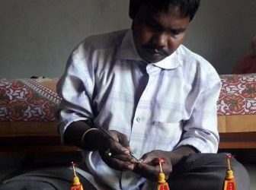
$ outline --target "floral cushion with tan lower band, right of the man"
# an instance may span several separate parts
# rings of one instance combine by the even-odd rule
[[[256,131],[256,74],[220,75],[219,132]]]

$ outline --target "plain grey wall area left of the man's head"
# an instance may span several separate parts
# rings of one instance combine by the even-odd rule
[[[130,27],[129,0],[0,0],[0,78],[58,77],[94,33]]]

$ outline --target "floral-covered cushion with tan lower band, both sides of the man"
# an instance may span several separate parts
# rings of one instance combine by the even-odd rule
[[[256,131],[256,74],[220,75],[220,133]],[[58,78],[0,80],[0,137],[58,136]]]

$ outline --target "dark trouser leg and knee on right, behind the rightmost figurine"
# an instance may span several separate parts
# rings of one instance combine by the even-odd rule
[[[250,189],[245,167],[231,160],[238,190]],[[174,166],[168,179],[170,188],[183,190],[222,190],[226,176],[226,154],[193,154]]]

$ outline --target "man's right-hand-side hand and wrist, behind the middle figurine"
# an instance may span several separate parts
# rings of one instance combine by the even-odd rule
[[[158,159],[161,158],[162,172],[165,173],[165,178],[172,172],[172,167],[181,160],[182,157],[194,154],[196,151],[193,147],[179,147],[174,151],[153,150],[142,157],[142,162],[137,164],[134,168],[134,172],[145,177],[146,179],[157,181],[158,174],[160,173],[160,167]]]

